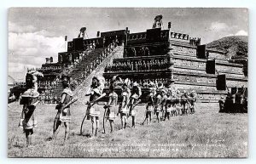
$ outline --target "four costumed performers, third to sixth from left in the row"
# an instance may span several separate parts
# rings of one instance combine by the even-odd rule
[[[121,103],[118,105],[118,94],[115,93],[115,88],[121,81]],[[99,120],[101,117],[101,106],[97,104],[98,100],[102,99],[107,95],[107,93],[102,93],[104,88],[104,78],[102,76],[94,76],[92,78],[92,82],[90,85],[90,89],[87,91],[85,96],[90,96],[89,102],[86,104],[87,110],[85,113],[85,117],[87,120],[91,120],[92,125],[92,135],[91,137],[96,137],[99,129]],[[140,97],[142,95],[141,88],[138,86],[137,82],[133,83],[133,87],[128,88],[130,86],[131,81],[126,78],[123,82],[121,78],[118,76],[113,76],[109,85],[109,93],[108,93],[108,101],[104,105],[105,112],[103,114],[103,130],[105,133],[105,120],[109,122],[110,132],[113,132],[113,122],[116,116],[120,116],[122,129],[126,127],[127,118],[131,116],[132,126],[136,125],[136,115],[137,110],[136,106],[140,102]],[[81,124],[80,133],[83,133],[83,124],[84,119]]]

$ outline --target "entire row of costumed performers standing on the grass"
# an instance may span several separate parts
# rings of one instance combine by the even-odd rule
[[[26,75],[26,92],[21,95],[20,105],[23,105],[23,109],[20,116],[20,127],[23,127],[24,133],[26,133],[26,144],[32,144],[32,133],[33,127],[37,126],[37,121],[35,117],[34,110],[36,109],[36,105],[38,105],[38,77],[43,76],[42,73],[38,71],[30,71]],[[110,132],[113,132],[113,122],[116,116],[120,116],[122,129],[126,127],[127,119],[131,116],[132,125],[131,127],[136,126],[136,116],[137,116],[137,108],[136,106],[141,101],[140,97],[142,95],[142,90],[139,87],[137,82],[134,82],[132,88],[131,81],[126,78],[124,81],[118,76],[113,76],[110,85],[109,85],[109,93],[108,93],[108,102],[104,105],[104,115],[103,115],[103,129],[105,133],[104,120],[108,120],[110,125]],[[121,82],[121,103],[118,105],[118,94],[115,93],[115,88]],[[73,99],[73,91],[70,88],[70,78],[69,76],[62,75],[61,83],[63,87],[63,91],[61,93],[61,102],[59,105],[56,105],[55,109],[57,110],[57,114],[55,116],[54,123],[54,131],[53,137],[51,139],[55,139],[57,133],[59,132],[59,127],[61,126],[61,122],[64,123],[65,126],[65,137],[64,141],[67,140],[69,135],[69,128],[71,122],[71,111],[70,105],[72,105],[77,99]],[[98,100],[105,97],[107,94],[103,93],[105,80],[102,76],[94,76],[92,78],[92,82],[89,90],[85,93],[85,96],[89,96],[89,101],[86,103],[87,109],[85,112],[84,118],[91,121],[92,127],[92,135],[91,137],[96,137],[99,129],[99,119],[101,116],[101,106],[98,105]],[[192,93],[184,92],[183,95],[179,95],[180,93],[172,88],[172,85],[168,87],[163,87],[163,84],[158,83],[157,85],[154,82],[149,83],[149,96],[148,102],[146,106],[145,120],[150,124],[152,112],[157,117],[157,121],[160,122],[160,112],[162,112],[162,117],[164,120],[166,118],[170,118],[172,111],[175,108],[175,105],[180,103],[182,108],[185,109],[185,104],[191,105],[191,109],[195,112],[195,100],[196,93],[195,91]],[[84,122],[84,120],[83,120]],[[82,126],[80,133],[82,133]]]

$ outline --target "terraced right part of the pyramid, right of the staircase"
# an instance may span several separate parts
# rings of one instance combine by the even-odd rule
[[[226,52],[208,49],[201,38],[161,28],[128,33],[122,59],[105,69],[106,87],[112,76],[130,78],[147,95],[148,82],[160,82],[180,92],[195,90],[200,102],[218,102],[234,88],[247,88],[243,65],[231,62]]]

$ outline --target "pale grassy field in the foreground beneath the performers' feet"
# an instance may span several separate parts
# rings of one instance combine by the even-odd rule
[[[247,114],[218,113],[218,105],[198,104],[195,114],[172,117],[170,121],[142,126],[144,106],[137,107],[137,127],[121,127],[120,118],[114,121],[114,132],[102,133],[102,118],[98,137],[89,139],[90,121],[84,122],[84,135],[80,123],[85,105],[73,105],[70,137],[63,144],[64,126],[58,138],[47,141],[52,134],[55,105],[38,105],[38,128],[32,137],[34,147],[26,148],[25,134],[18,127],[21,106],[9,107],[9,157],[247,157]],[[103,114],[103,108],[102,108]]]

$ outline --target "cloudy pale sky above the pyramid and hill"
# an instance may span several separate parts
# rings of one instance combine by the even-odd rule
[[[40,67],[45,58],[57,61],[65,39],[78,37],[85,26],[88,37],[96,31],[146,31],[155,15],[163,15],[164,28],[201,37],[201,43],[227,36],[248,35],[246,8],[9,8],[9,75],[24,81],[26,68]]]

